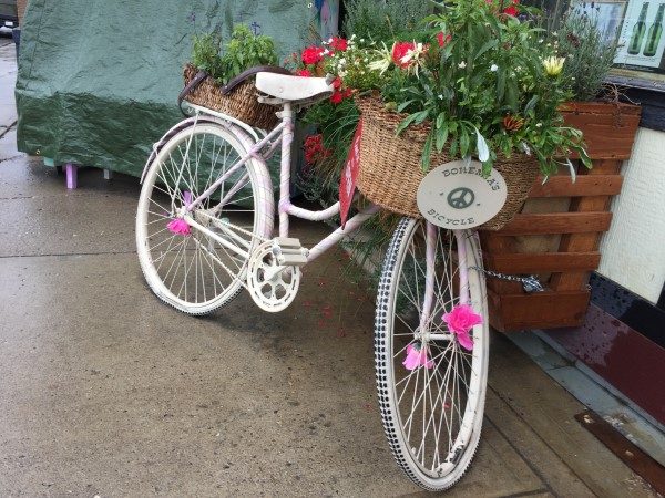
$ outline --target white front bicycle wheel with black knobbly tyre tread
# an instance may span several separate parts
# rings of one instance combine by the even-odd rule
[[[377,295],[375,359],[381,418],[398,465],[419,486],[443,490],[462,477],[480,439],[488,308],[484,278],[469,270],[468,304],[483,319],[470,333],[469,351],[442,315],[460,304],[461,270],[482,267],[477,236],[462,236],[464,263],[453,232],[430,226],[428,237],[427,227],[403,218],[392,236]]]

